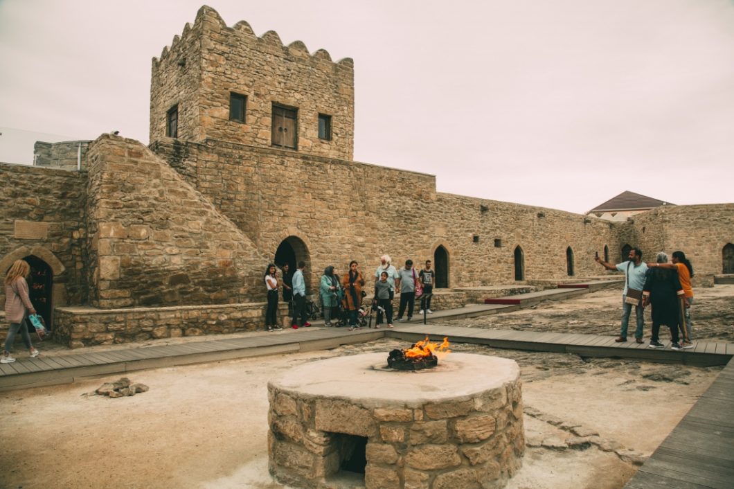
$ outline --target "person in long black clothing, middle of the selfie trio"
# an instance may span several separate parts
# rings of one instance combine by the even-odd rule
[[[655,265],[666,264],[668,256],[658,253]],[[653,338],[650,340],[650,348],[663,348],[664,344],[659,341],[658,334],[660,326],[666,325],[670,328],[672,337],[671,349],[680,349],[678,344],[678,297],[683,296],[683,287],[680,286],[678,274],[675,270],[665,267],[653,267],[647,269],[647,274],[642,288],[642,305],[652,304],[653,311]]]

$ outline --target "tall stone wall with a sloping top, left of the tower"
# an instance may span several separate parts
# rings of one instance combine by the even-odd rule
[[[91,305],[264,299],[266,258],[148,148],[103,135],[88,164]]]

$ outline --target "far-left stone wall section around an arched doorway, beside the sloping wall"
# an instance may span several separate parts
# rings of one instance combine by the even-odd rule
[[[13,261],[33,255],[54,272],[54,305],[86,299],[85,178],[85,173],[0,164],[0,281]],[[3,287],[0,303],[4,300]]]

